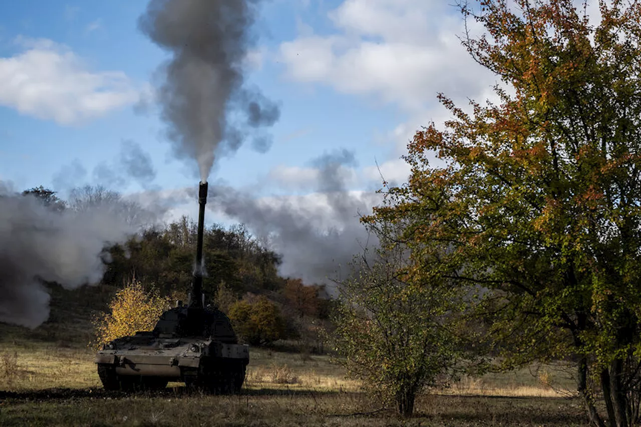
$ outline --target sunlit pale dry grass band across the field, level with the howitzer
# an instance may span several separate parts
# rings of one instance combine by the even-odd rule
[[[101,383],[90,349],[51,344],[7,346],[0,353],[0,390],[49,388],[100,388]],[[345,371],[328,356],[301,358],[295,353],[251,349],[246,389],[315,390],[357,392],[358,381],[345,378]],[[542,374],[543,372],[543,374]],[[172,383],[178,386],[179,383]],[[513,373],[463,378],[441,394],[460,396],[520,396],[553,398],[572,395],[572,382],[554,371],[522,369]]]

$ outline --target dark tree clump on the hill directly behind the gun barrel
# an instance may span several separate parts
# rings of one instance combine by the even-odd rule
[[[236,235],[238,233],[238,235]],[[192,283],[196,224],[183,217],[165,228],[148,228],[122,245],[109,249],[104,283],[122,285],[135,276],[154,283],[163,294],[187,292]],[[204,263],[208,275],[203,290],[215,297],[224,281],[237,294],[278,289],[284,281],[276,270],[278,256],[262,247],[239,226],[205,230]]]

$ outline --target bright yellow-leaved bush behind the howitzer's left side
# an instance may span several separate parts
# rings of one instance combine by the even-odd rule
[[[153,330],[160,315],[169,308],[170,301],[169,297],[146,290],[140,281],[132,280],[116,292],[109,303],[108,312],[94,318],[94,347],[119,337],[134,335],[137,331]]]

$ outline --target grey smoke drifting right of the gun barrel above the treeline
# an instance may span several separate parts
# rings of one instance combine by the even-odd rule
[[[304,283],[333,286],[339,272],[347,272],[354,255],[364,247],[378,246],[360,216],[381,201],[374,192],[349,192],[340,174],[341,167],[355,165],[354,155],[343,150],[324,155],[315,162],[319,168],[316,192],[267,202],[230,187],[210,187],[210,208],[246,224],[254,235],[267,236],[272,249],[283,256],[280,274],[303,278]],[[319,202],[324,208],[319,208]]]

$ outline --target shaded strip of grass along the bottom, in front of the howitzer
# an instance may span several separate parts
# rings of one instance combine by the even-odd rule
[[[285,393],[285,394],[283,394]],[[1,396],[1,395],[0,395]],[[11,396],[0,425],[13,426],[549,426],[585,425],[576,402],[549,398],[425,396],[415,417],[399,419],[359,393],[263,390],[241,396],[197,396],[171,389],[153,395],[49,392]],[[377,410],[379,410],[377,412]]]

